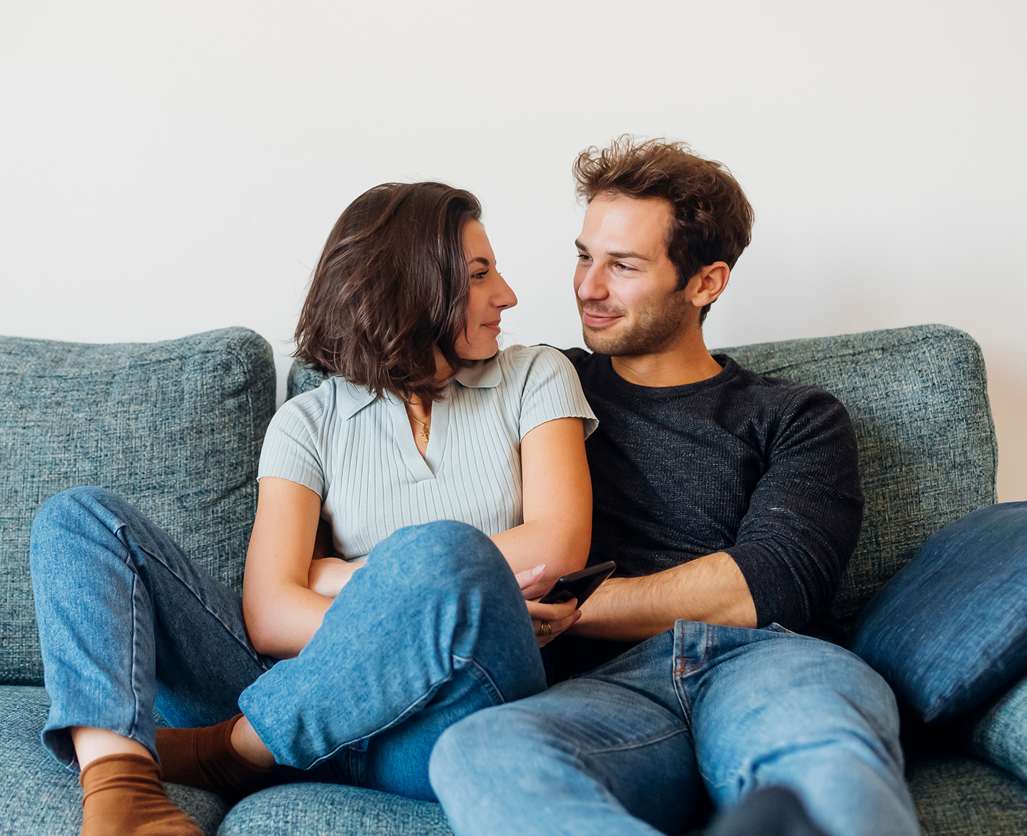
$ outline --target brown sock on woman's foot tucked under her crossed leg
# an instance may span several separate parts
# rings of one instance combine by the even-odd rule
[[[158,728],[161,777],[217,793],[230,804],[275,784],[273,766],[251,763],[232,746],[232,729],[241,719],[237,714],[216,726]]]

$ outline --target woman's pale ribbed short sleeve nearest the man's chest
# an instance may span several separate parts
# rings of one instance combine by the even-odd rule
[[[574,367],[560,351],[547,345],[533,346],[529,350],[533,355],[521,397],[521,438],[546,421],[582,418],[587,439],[599,426],[599,420],[585,400]]]

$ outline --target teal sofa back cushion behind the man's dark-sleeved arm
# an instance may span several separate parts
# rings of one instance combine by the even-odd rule
[[[995,501],[987,377],[967,334],[916,326],[716,350],[827,389],[852,418],[866,506],[837,618],[855,615],[942,526]]]

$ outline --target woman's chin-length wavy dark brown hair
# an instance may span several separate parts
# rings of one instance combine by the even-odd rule
[[[470,192],[384,183],[336,222],[296,326],[294,356],[377,396],[438,398],[435,349],[454,370],[467,328],[470,275],[462,233],[480,221]]]

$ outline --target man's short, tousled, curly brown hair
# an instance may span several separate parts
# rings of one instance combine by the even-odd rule
[[[685,143],[638,142],[624,135],[609,148],[586,148],[574,161],[577,192],[587,202],[604,192],[659,197],[674,212],[667,255],[678,271],[678,289],[717,261],[733,268],[749,245],[753,207],[725,165],[702,159]],[[699,322],[710,306],[702,308]]]

